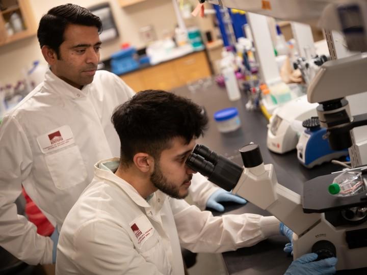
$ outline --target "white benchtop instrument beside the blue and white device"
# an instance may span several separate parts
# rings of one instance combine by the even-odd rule
[[[304,130],[302,121],[317,115],[317,105],[303,95],[276,108],[268,124],[268,149],[279,154],[296,149]]]

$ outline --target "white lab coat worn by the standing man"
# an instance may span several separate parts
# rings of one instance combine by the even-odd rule
[[[134,94],[121,78],[107,71],[97,71],[93,82],[82,90],[47,71],[44,82],[4,118],[0,126],[0,246],[29,264],[52,262],[53,242],[38,235],[36,227],[16,213],[14,202],[21,184],[60,229],[91,182],[94,163],[119,156],[120,141],[111,115]],[[217,187],[205,179],[195,184],[196,178],[192,185],[204,188],[194,201],[205,205]]]

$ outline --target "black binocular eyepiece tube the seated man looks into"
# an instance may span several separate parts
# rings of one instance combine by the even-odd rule
[[[243,172],[241,166],[203,145],[196,145],[186,164],[227,191],[233,189]]]

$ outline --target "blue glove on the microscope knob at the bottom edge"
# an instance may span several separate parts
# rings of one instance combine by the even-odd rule
[[[292,262],[284,275],[325,275],[336,272],[335,265],[337,259],[335,257],[314,262],[317,257],[318,255],[316,253],[301,256]]]

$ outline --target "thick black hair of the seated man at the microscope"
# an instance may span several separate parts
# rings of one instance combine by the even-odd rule
[[[208,119],[190,99],[146,90],[118,106],[111,121],[120,137],[120,163],[128,167],[138,152],[160,157],[174,137],[183,137],[189,144],[203,135]]]

